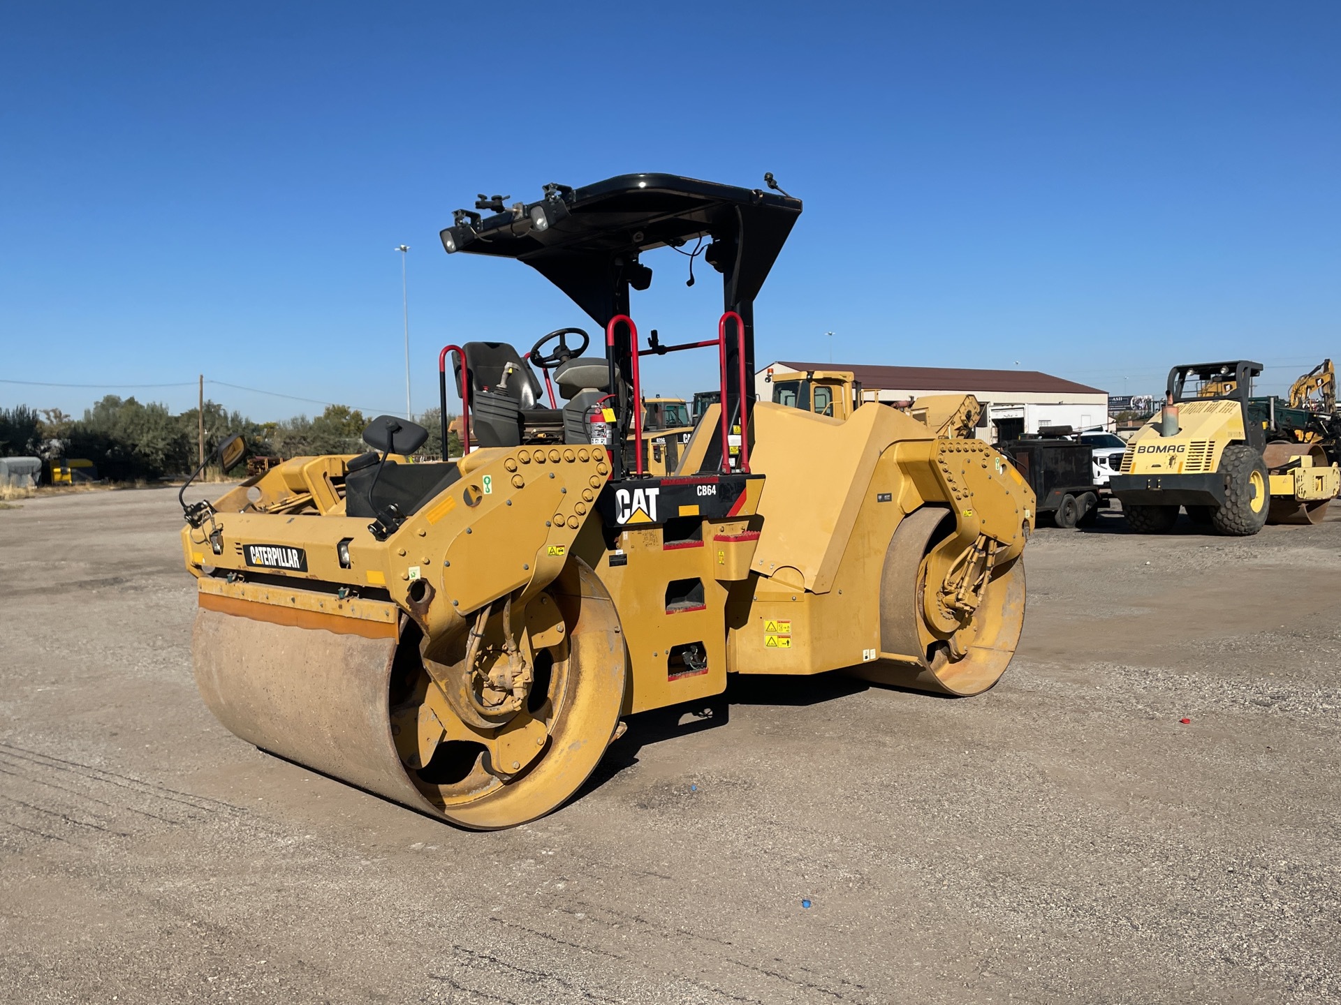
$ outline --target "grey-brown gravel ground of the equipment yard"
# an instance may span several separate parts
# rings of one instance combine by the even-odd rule
[[[1341,998],[1341,512],[1042,529],[987,694],[747,678],[500,833],[220,728],[178,527],[158,489],[0,512],[0,998]]]

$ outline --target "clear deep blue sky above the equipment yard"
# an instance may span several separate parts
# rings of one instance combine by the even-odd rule
[[[756,354],[1045,370],[1121,394],[1341,356],[1341,4],[9,4],[0,378],[196,375],[414,409],[445,342],[591,327],[437,230],[475,193],[664,170],[806,209]],[[719,292],[648,256],[644,330]],[[696,356],[701,356],[696,359]],[[712,385],[711,354],[649,391]],[[113,391],[0,383],[78,414]],[[255,418],[319,411],[207,387]]]

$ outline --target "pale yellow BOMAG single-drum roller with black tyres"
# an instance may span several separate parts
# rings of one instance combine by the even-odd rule
[[[1179,508],[1219,533],[1247,536],[1267,523],[1318,523],[1341,490],[1341,469],[1317,442],[1275,419],[1274,399],[1252,398],[1262,364],[1246,359],[1169,371],[1164,407],[1126,445],[1109,480],[1126,524],[1173,528]]]

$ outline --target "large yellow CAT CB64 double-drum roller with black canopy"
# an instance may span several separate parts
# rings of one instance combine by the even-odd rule
[[[366,454],[288,460],[186,508],[196,677],[219,720],[499,828],[577,792],[622,717],[701,708],[728,674],[991,687],[1023,623],[1033,493],[986,444],[893,409],[839,419],[755,401],[754,297],[799,213],[789,196],[661,174],[459,213],[448,252],[532,265],[599,336],[444,348],[459,461],[406,462],[426,431],[384,415]],[[640,255],[700,239],[728,310],[701,338],[644,346]],[[641,360],[689,348],[707,350],[720,398],[653,474]]]

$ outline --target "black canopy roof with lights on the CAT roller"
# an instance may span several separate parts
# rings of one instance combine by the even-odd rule
[[[498,208],[498,205],[492,206]],[[646,288],[644,251],[711,240],[704,259],[723,275],[723,303],[750,307],[801,214],[790,196],[675,174],[621,174],[480,217],[456,212],[451,251],[518,259],[567,293],[601,326],[628,311],[629,285]],[[692,247],[692,245],[691,245]]]

